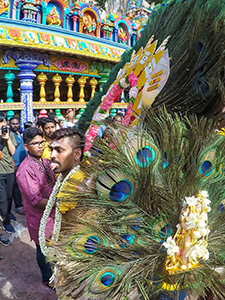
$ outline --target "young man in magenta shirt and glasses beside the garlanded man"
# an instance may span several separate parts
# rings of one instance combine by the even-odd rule
[[[23,133],[23,140],[28,156],[20,164],[16,179],[23,196],[30,238],[36,244],[36,258],[41,270],[42,281],[46,286],[49,286],[52,270],[50,263],[46,263],[40,250],[38,230],[45,206],[55,184],[55,175],[50,168],[50,161],[41,158],[45,146],[42,131],[34,127],[27,128]],[[54,212],[48,219],[46,238],[51,236],[53,224]]]

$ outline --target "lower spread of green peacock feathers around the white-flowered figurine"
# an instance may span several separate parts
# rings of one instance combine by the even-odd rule
[[[81,166],[91,183],[71,179],[61,199],[78,204],[50,253],[59,267],[60,299],[159,299],[171,291],[179,298],[184,289],[202,296],[210,289],[224,299],[224,137],[215,126],[213,119],[179,117],[163,108],[150,110],[142,128],[121,128],[110,142],[95,141],[98,155]],[[213,168],[203,168],[205,161]],[[204,190],[211,200],[207,236],[196,235],[186,252],[196,257],[194,246],[204,242],[205,256],[168,271],[166,245],[174,240],[183,249],[193,234],[182,227],[181,216],[190,211],[184,203],[201,201]],[[196,205],[194,213],[203,204]],[[82,214],[87,211],[88,218]],[[182,251],[176,254],[180,266],[186,261]]]

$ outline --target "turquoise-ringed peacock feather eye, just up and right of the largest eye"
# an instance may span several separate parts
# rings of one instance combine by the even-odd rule
[[[141,168],[145,168],[151,165],[155,161],[155,159],[156,159],[156,152],[150,146],[142,147],[137,151],[135,156],[135,162]]]

